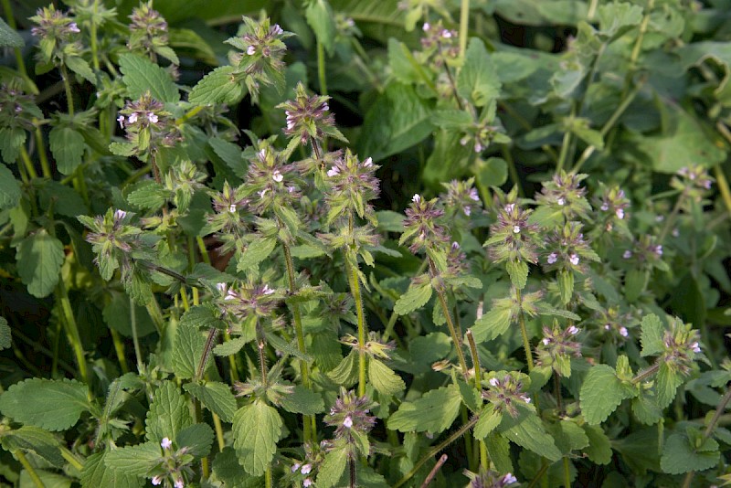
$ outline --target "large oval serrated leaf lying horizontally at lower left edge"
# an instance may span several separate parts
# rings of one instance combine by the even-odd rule
[[[66,430],[88,411],[89,388],[73,379],[26,379],[0,396],[0,411],[16,422],[46,430]]]

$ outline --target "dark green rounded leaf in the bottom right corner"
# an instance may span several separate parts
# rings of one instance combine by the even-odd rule
[[[713,468],[720,459],[718,442],[714,439],[706,439],[703,449],[696,449],[687,436],[682,433],[674,433],[662,447],[660,467],[663,472],[669,474],[682,474],[683,472],[704,471]]]

